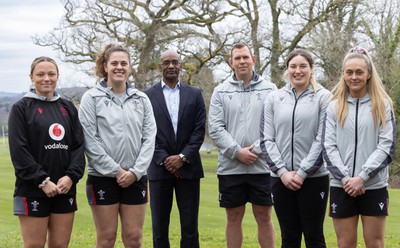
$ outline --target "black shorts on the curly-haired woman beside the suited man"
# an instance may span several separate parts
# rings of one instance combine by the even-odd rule
[[[89,205],[140,205],[147,203],[147,176],[142,176],[127,188],[118,185],[116,178],[88,176],[86,196]]]

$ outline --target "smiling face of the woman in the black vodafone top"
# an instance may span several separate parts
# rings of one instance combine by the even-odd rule
[[[29,75],[35,86],[36,94],[50,99],[57,87],[58,71],[55,64],[42,61],[35,65]]]

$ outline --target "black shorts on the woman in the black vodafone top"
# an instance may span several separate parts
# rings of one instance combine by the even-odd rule
[[[54,197],[14,196],[14,214],[32,217],[48,217],[50,214],[72,213],[78,209],[76,195]]]

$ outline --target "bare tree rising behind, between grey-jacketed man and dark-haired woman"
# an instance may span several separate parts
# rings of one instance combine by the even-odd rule
[[[247,20],[241,39],[249,41],[259,58],[256,70],[281,85],[283,57],[304,41],[321,23],[338,15],[338,9],[355,0],[228,0]],[[263,13],[262,15],[260,13]]]

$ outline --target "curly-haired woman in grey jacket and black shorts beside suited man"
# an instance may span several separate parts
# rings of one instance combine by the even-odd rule
[[[107,45],[96,59],[96,75],[103,80],[83,95],[79,108],[96,247],[114,247],[118,216],[125,247],[142,246],[157,126],[147,95],[127,82],[130,72],[128,49]]]

